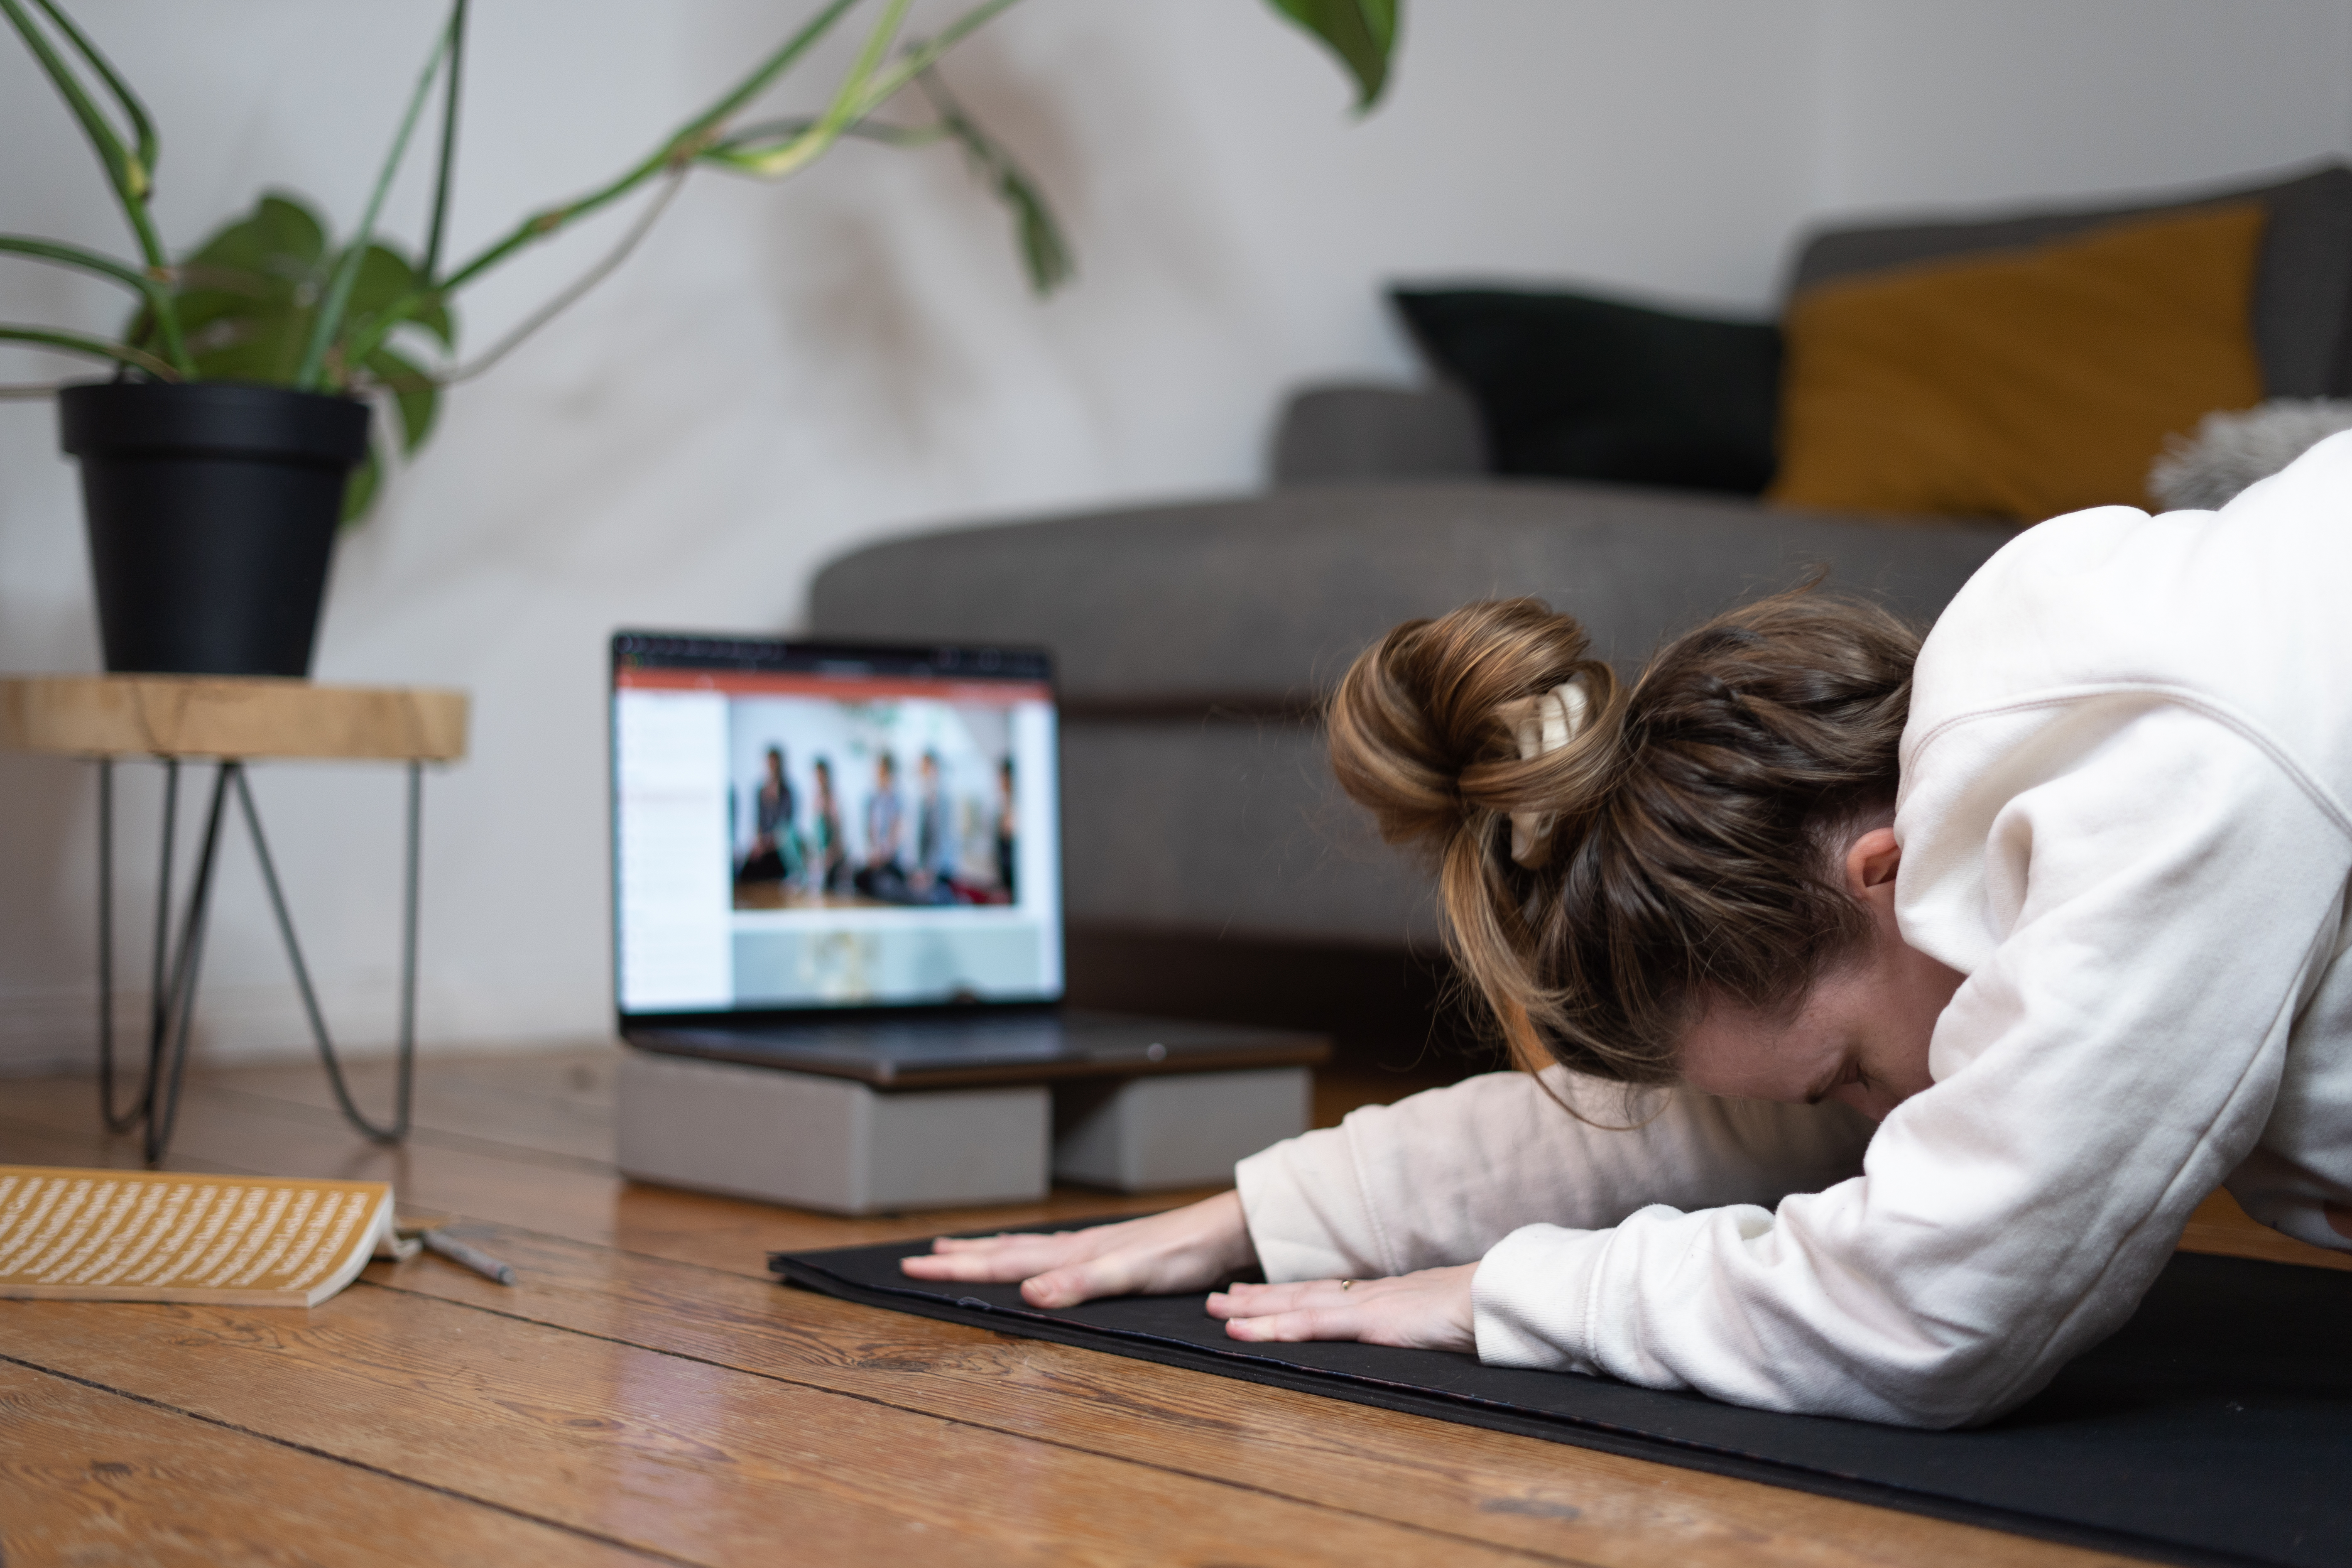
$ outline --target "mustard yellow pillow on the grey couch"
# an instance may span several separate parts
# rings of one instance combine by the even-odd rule
[[[2166,435],[2263,400],[2263,219],[2201,207],[1806,289],[1766,496],[2025,522],[2147,505]]]

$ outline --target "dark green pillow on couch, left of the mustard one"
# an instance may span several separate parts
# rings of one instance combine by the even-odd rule
[[[1531,289],[1395,289],[1479,404],[1496,473],[1762,491],[1780,329]]]

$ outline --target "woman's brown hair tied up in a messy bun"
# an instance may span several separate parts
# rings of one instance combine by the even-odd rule
[[[1788,1006],[1867,940],[1844,827],[1893,806],[1919,637],[1811,588],[1708,621],[1628,689],[1538,599],[1406,621],[1329,710],[1331,769],[1437,856],[1446,940],[1524,1067],[1675,1077],[1715,997]],[[1573,682],[1585,717],[1519,733]],[[1512,858],[1512,813],[1550,818]]]

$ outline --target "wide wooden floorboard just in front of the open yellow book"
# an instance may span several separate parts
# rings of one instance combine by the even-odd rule
[[[0,1302],[0,1342],[19,1363],[691,1563],[1526,1561],[367,1286],[310,1312]]]

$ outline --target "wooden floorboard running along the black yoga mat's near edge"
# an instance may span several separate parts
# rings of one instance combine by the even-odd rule
[[[1016,1340],[494,1227],[496,1286],[435,1258],[369,1279],[910,1410],[1592,1563],[2093,1563],[1915,1514]]]

